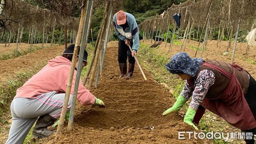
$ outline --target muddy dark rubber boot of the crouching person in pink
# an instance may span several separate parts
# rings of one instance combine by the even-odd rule
[[[52,118],[49,114],[42,115],[38,118],[33,130],[33,136],[38,138],[46,138],[52,134],[52,131],[48,130],[47,127],[54,124],[56,118]]]

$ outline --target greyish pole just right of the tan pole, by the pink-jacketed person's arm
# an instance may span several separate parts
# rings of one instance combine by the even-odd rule
[[[70,117],[67,125],[67,130],[72,130],[72,127],[73,127],[73,120],[74,120],[75,109],[76,109],[76,98],[78,94],[79,81],[80,81],[80,76],[82,71],[82,62],[84,58],[84,49],[86,48],[85,46],[88,40],[88,28],[89,28],[88,24],[89,24],[90,12],[92,12],[91,11],[92,4],[93,4],[93,0],[87,0],[86,14],[84,18],[84,28],[83,28],[82,40],[81,40],[81,48],[79,52],[78,68],[76,73],[76,82],[74,86],[73,101],[70,108]]]

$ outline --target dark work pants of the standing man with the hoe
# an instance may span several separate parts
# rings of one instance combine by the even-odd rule
[[[131,43],[131,47],[133,45],[133,43],[130,41]],[[128,57],[128,61],[129,63],[131,64],[135,64],[135,59],[134,57],[131,56],[131,50],[129,48],[129,46],[127,46],[125,44],[125,41],[123,40],[118,40],[118,63],[127,63],[126,60],[127,60],[127,57]]]

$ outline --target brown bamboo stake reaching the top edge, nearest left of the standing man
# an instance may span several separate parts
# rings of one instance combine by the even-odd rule
[[[106,6],[105,6],[105,15],[104,15],[104,19],[102,21],[102,29],[101,29],[101,34],[100,34],[100,37],[99,37],[99,45],[98,45],[98,48],[97,48],[98,50],[96,52],[95,61],[94,61],[94,63],[92,63],[93,64],[93,70],[92,70],[92,73],[91,73],[91,76],[90,76],[88,89],[90,89],[92,84],[93,84],[94,75],[95,75],[97,64],[98,64],[98,61],[99,61],[99,52],[100,52],[100,48],[102,47],[103,34],[104,34],[105,27],[106,27],[106,21],[107,21],[107,18],[108,18],[109,3],[110,2],[108,1],[106,3]]]

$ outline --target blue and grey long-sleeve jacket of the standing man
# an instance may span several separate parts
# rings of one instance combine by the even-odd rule
[[[119,26],[116,22],[116,14],[114,14],[114,16],[113,16],[113,26],[115,28],[116,35],[121,40],[125,41],[127,38],[129,40],[132,40],[132,42],[133,42],[132,50],[137,52],[137,50],[139,49],[139,44],[140,44],[138,24],[135,20],[135,17],[132,14],[129,14],[128,12],[125,12],[125,14],[127,15],[126,20],[127,20],[129,27],[126,28],[125,31],[123,31],[123,28],[121,26]]]

